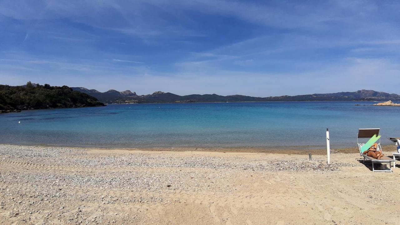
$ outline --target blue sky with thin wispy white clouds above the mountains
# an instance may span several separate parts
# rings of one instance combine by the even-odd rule
[[[0,0],[0,83],[398,93],[400,2]]]

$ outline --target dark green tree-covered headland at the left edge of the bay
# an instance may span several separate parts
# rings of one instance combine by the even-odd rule
[[[0,113],[90,106],[104,106],[104,103],[88,94],[74,91],[68,86],[40,85],[31,82],[24,86],[0,85]]]

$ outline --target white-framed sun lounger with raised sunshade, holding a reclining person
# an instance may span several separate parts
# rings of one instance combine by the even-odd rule
[[[365,145],[365,143],[372,138],[374,135],[380,135],[379,133],[380,129],[375,128],[375,129],[358,129],[358,134],[357,134],[357,145],[358,145],[358,150],[360,150],[360,156],[364,157],[363,163],[365,164],[365,160],[369,160],[372,163],[372,171],[373,172],[390,172],[392,173],[392,162],[394,162],[394,159],[391,159],[387,157],[386,155],[382,157],[382,159],[374,159],[372,157],[369,157],[368,155],[362,154],[361,148]],[[364,139],[365,143],[360,143],[358,139]],[[378,149],[377,150],[382,150],[382,147],[380,146],[380,139],[378,141]],[[374,163],[389,163],[389,170],[376,170],[374,169]]]

